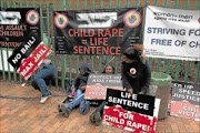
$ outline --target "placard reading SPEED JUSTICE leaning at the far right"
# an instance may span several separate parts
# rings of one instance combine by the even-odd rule
[[[173,116],[200,121],[200,85],[172,82],[171,112]]]

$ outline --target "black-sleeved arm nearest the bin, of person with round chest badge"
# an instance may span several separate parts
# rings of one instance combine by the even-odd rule
[[[151,82],[151,70],[149,68],[148,62],[146,62],[143,76],[141,80],[141,92],[139,92],[139,94],[144,94],[147,92],[147,90],[149,89],[150,82]]]

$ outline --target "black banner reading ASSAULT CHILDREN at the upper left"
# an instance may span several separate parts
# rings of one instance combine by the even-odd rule
[[[39,8],[0,8],[0,47],[18,48],[28,34],[40,37],[39,20]]]

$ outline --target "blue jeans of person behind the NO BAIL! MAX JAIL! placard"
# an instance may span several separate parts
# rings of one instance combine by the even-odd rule
[[[42,96],[51,95],[51,92],[47,89],[46,82],[43,79],[49,79],[54,76],[56,69],[52,64],[46,65],[41,71],[39,71],[32,81],[32,86],[39,89],[42,93]]]

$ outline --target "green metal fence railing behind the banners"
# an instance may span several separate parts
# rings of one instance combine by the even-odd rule
[[[88,62],[93,71],[101,72],[107,64],[114,65],[114,71],[120,72],[121,57],[104,55],[57,55],[53,51],[53,10],[76,9],[104,9],[104,8],[132,8],[147,4],[186,10],[200,10],[200,0],[1,0],[1,8],[40,8],[41,39],[52,48],[50,58],[57,69],[54,84],[64,88],[78,74],[79,65]],[[22,78],[10,68],[7,59],[13,50],[0,48],[0,79],[6,81],[23,82]],[[4,61],[3,61],[4,60]],[[149,59],[152,71],[169,73],[176,81],[199,83],[200,62],[174,61],[166,59]]]

